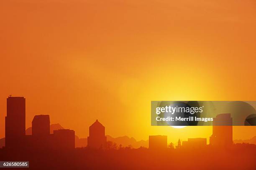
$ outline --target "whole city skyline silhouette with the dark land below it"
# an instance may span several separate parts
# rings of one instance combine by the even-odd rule
[[[188,156],[190,160],[182,168],[204,169],[210,166],[225,169],[235,167],[253,169],[256,167],[254,161],[256,145],[233,144],[233,126],[218,126],[223,120],[230,121],[232,125],[230,114],[220,114],[214,119],[215,126],[212,128],[209,145],[207,138],[188,138],[187,141],[182,142],[179,139],[178,145],[174,147],[174,143],[167,142],[166,135],[149,135],[148,148],[141,146],[137,149],[132,145],[124,147],[122,144],[117,145],[107,140],[105,127],[99,120],[95,120],[89,127],[87,146],[76,148],[75,131],[61,128],[51,133],[49,115],[35,115],[29,135],[26,134],[24,127],[26,121],[24,117],[26,117],[25,98],[9,96],[5,117],[7,127],[5,147],[0,148],[0,160],[29,161],[31,169],[155,169],[155,166],[170,165],[178,168],[183,163],[183,158]],[[204,155],[206,153],[211,157],[207,158]],[[220,160],[220,157],[223,159]],[[228,159],[224,159],[226,157]],[[147,164],[143,163],[145,159],[149,160]],[[127,164],[126,160],[133,163]],[[156,160],[161,165],[155,164]],[[234,160],[240,165],[233,164]],[[199,167],[197,163],[200,164]]]

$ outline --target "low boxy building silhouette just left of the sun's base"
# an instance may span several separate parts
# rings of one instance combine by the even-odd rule
[[[148,148],[153,149],[153,150],[166,149],[167,148],[167,136],[165,136],[165,135],[149,136]]]

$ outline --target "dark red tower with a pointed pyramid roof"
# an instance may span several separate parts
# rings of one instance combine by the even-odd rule
[[[105,127],[96,120],[89,127],[89,136],[87,138],[87,146],[89,148],[105,148],[107,137],[105,136]]]

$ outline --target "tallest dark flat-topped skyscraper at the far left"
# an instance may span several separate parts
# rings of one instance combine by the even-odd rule
[[[5,117],[6,148],[20,147],[26,133],[26,100],[24,97],[7,98]]]

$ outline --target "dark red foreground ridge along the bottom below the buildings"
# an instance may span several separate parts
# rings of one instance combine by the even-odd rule
[[[255,170],[256,145],[234,144],[229,148],[150,150],[147,148],[74,150],[0,149],[0,160],[29,160],[33,170],[131,169],[131,170]]]

